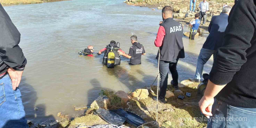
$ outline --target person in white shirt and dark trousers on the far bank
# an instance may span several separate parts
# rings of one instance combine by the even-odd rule
[[[203,18],[202,25],[205,25],[206,18],[207,18],[207,11],[209,10],[209,3],[206,0],[203,0],[202,2],[199,3],[198,7],[200,8],[199,19],[201,21]]]

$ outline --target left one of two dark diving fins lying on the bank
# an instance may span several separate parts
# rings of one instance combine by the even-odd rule
[[[98,110],[96,110],[96,113],[99,115],[100,118],[112,125],[123,125],[126,120],[125,117],[112,110],[105,110],[99,108]]]

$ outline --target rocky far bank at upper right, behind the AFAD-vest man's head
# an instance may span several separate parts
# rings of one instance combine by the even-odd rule
[[[194,18],[195,13],[199,11],[200,0],[196,1],[195,13],[189,13],[190,0],[126,0],[125,3],[133,6],[148,7],[162,9],[164,6],[173,7],[174,18],[179,19],[179,22],[189,22]],[[208,26],[211,17],[215,15],[220,15],[222,12],[222,6],[227,4],[229,6],[234,5],[234,0],[208,0],[209,11],[207,12],[207,19],[205,26]]]

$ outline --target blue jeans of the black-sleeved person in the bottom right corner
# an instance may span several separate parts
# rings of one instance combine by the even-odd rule
[[[256,108],[241,108],[214,99],[207,128],[256,128]]]

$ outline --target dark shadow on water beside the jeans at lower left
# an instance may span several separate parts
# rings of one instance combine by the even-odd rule
[[[31,120],[34,125],[31,128],[35,127],[37,123],[55,120],[53,115],[48,115],[46,113],[45,104],[35,105],[37,97],[37,92],[35,89],[28,83],[26,83],[26,78],[22,78],[21,84],[19,85],[21,90],[22,102],[24,104],[24,110],[26,113],[26,119]],[[36,109],[35,109],[36,108]]]

